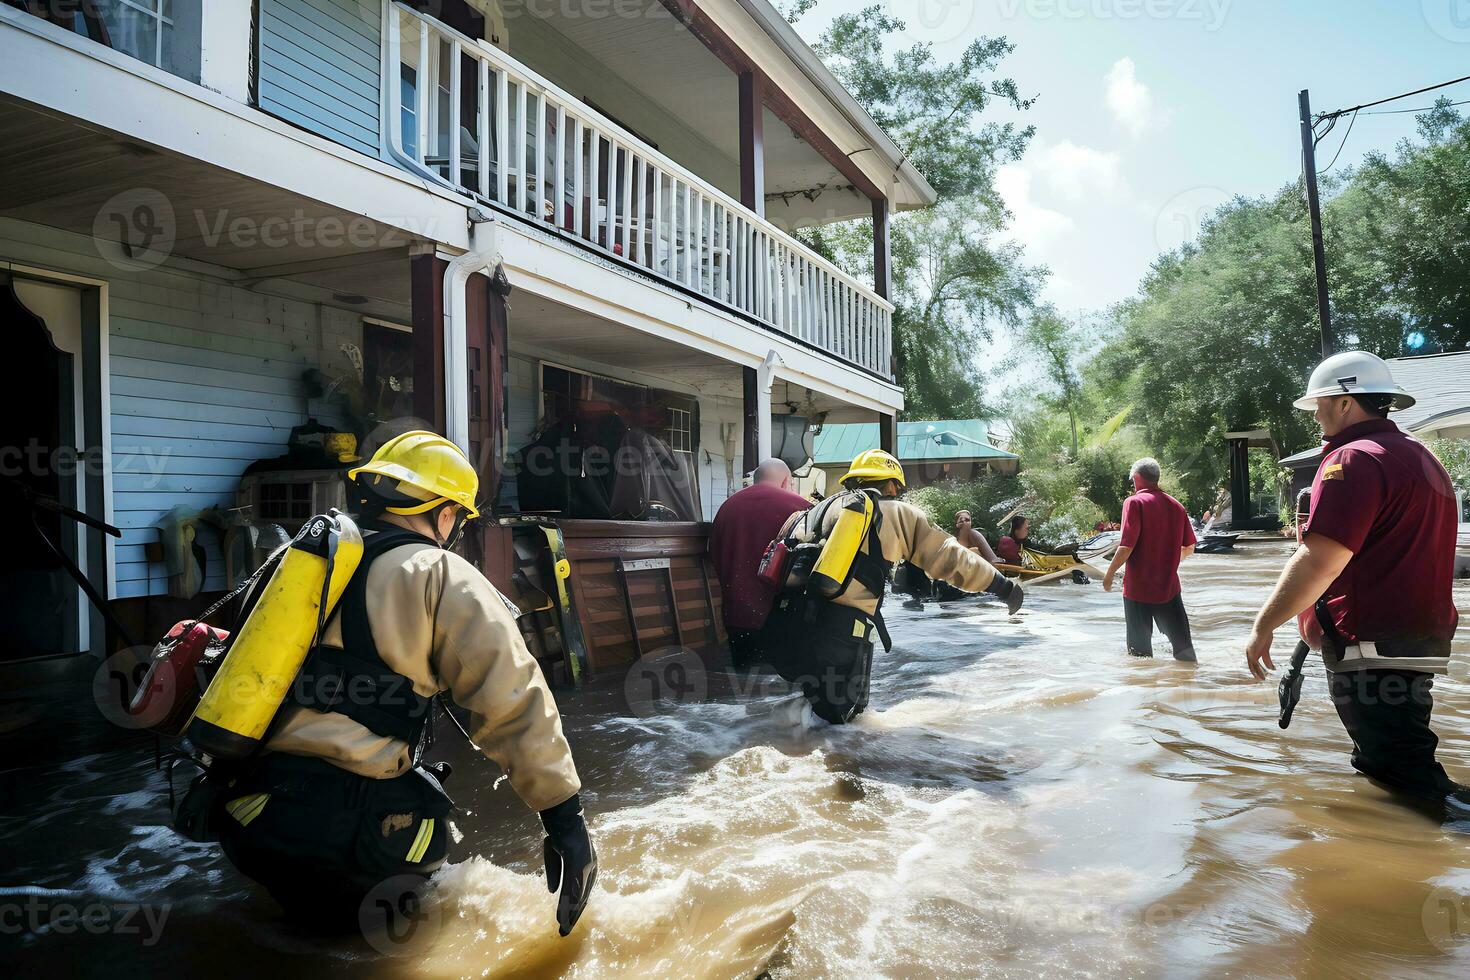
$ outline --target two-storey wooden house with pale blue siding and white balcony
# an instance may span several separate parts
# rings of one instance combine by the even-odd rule
[[[6,329],[50,344],[12,347],[38,351],[10,364],[37,411],[6,422],[7,451],[81,451],[26,473],[122,529],[59,533],[134,621],[169,608],[163,516],[232,507],[307,419],[350,429],[334,381],[456,439],[503,511],[557,398],[659,392],[692,520],[562,522],[582,579],[616,572],[622,599],[664,588],[625,560],[703,563],[698,522],[769,451],[773,411],[879,422],[892,445],[888,216],[933,192],[766,0],[0,0],[0,137]],[[791,235],[869,216],[875,282]],[[475,548],[507,582],[510,532]],[[673,564],[673,623],[642,636],[631,604],[613,621],[625,605],[579,595],[631,635],[604,660],[692,642],[691,602],[717,633],[717,597]],[[66,588],[65,627],[12,657],[101,649]]]

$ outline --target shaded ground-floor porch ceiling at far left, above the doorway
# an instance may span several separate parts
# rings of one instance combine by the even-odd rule
[[[0,132],[0,215],[109,244],[172,237],[172,256],[251,279],[407,301],[397,228],[4,96]]]

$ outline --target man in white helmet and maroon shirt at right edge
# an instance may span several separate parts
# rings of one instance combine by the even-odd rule
[[[1264,679],[1276,627],[1314,610],[1354,768],[1399,792],[1466,801],[1470,790],[1435,760],[1429,727],[1433,676],[1448,669],[1458,623],[1455,495],[1439,460],[1388,420],[1411,404],[1373,354],[1335,354],[1313,372],[1295,403],[1316,411],[1326,436],[1311,516],[1255,617],[1245,663]]]

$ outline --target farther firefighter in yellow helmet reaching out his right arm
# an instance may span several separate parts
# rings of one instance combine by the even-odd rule
[[[873,639],[891,645],[879,608],[895,563],[911,561],[966,592],[992,592],[1011,613],[1025,598],[1019,585],[898,500],[904,467],[891,454],[858,454],[841,483],[844,492],[782,527],[791,570],[770,630],[786,641],[775,651],[781,674],[832,724],[867,707]]]

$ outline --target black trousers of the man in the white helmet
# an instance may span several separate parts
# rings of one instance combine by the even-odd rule
[[[1421,670],[1329,671],[1327,689],[1352,738],[1352,768],[1389,789],[1441,799],[1460,789],[1435,760],[1435,676]]]

